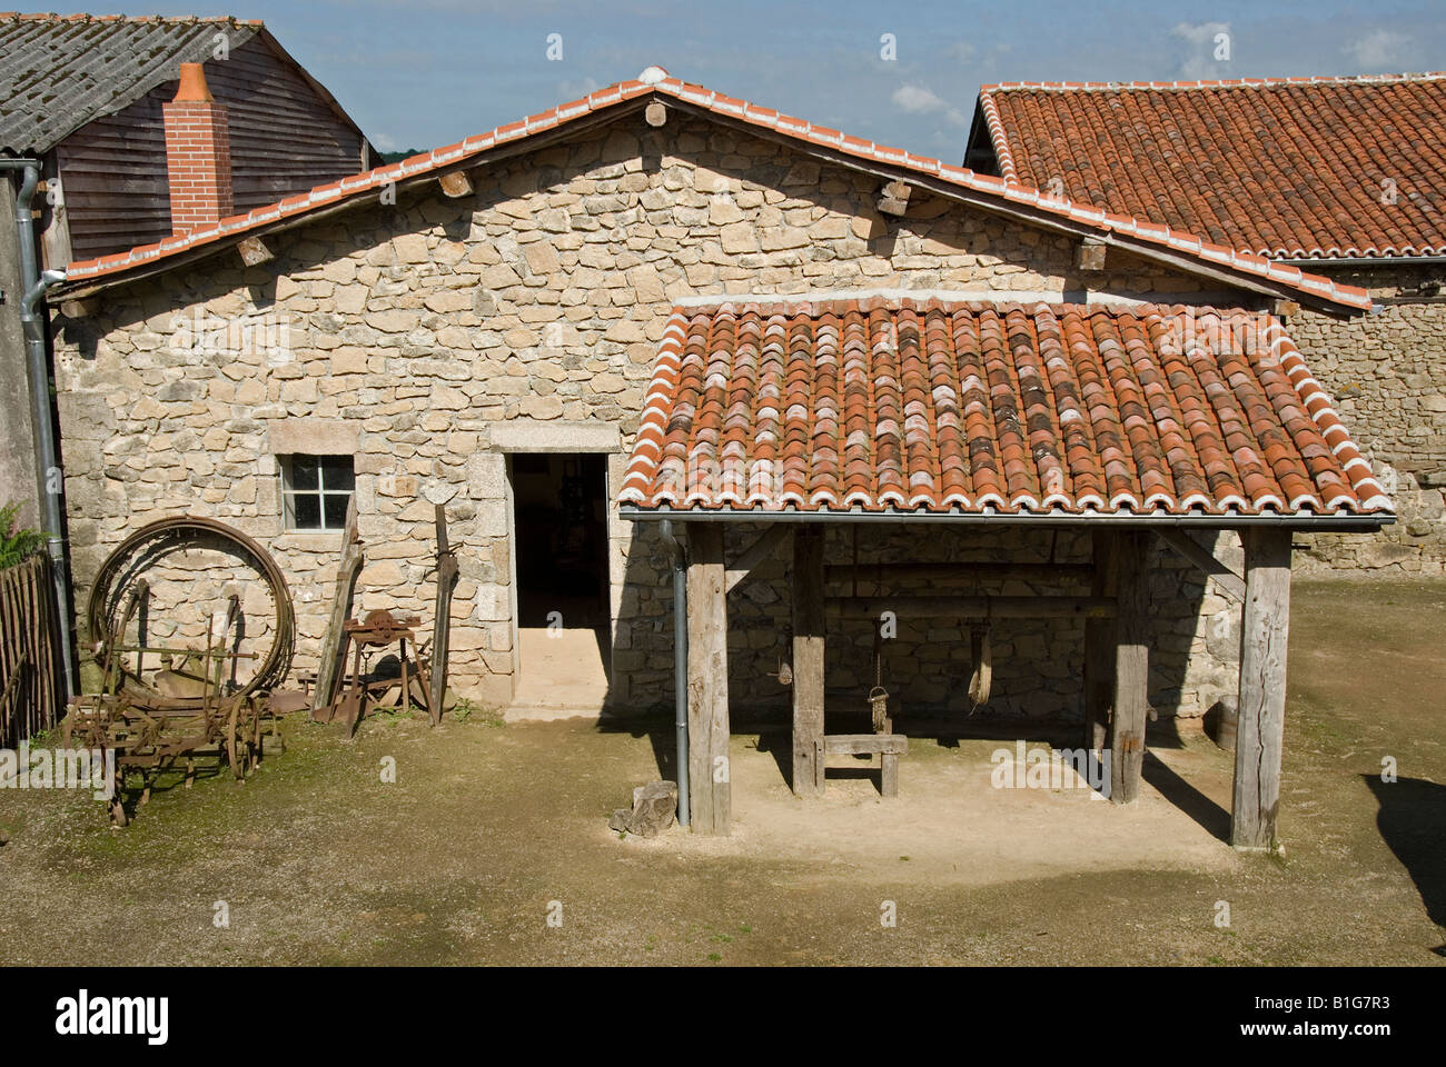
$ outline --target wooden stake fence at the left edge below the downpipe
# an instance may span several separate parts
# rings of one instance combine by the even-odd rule
[[[51,561],[0,571],[0,747],[49,730],[65,714]]]

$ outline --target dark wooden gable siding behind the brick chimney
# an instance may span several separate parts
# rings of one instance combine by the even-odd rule
[[[205,64],[226,104],[236,210],[272,204],[362,169],[362,136],[301,72],[254,38]],[[69,257],[88,259],[171,234],[166,139],[161,106],[176,82],[81,127],[56,147]]]

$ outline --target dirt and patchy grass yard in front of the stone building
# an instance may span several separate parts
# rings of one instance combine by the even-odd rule
[[[607,815],[658,776],[667,721],[382,716],[347,743],[294,717],[249,784],[159,791],[121,831],[88,794],[0,791],[0,943],[75,964],[1443,966],[1446,583],[1294,600],[1283,857],[1223,843],[1231,756],[1193,723],[1152,730],[1129,807],[992,788],[1012,724],[914,737],[891,801],[847,766],[795,800],[787,736],[739,733],[730,837],[620,840]]]

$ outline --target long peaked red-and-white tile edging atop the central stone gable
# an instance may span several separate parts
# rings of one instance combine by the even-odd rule
[[[132,267],[140,267],[156,260],[178,256],[205,244],[218,244],[226,240],[234,241],[244,237],[249,231],[257,230],[263,226],[307,215],[312,211],[346,201],[357,194],[379,189],[390,182],[466,163],[469,158],[477,156],[493,147],[523,140],[544,130],[565,126],[567,123],[583,119],[591,113],[602,111],[639,97],[646,97],[649,94],[658,94],[664,98],[693,104],[694,107],[711,111],[724,119],[782,133],[804,142],[811,142],[839,152],[840,155],[855,156],[869,163],[888,163],[902,171],[912,171],[920,175],[937,178],[950,185],[960,187],[962,189],[992,198],[998,201],[1002,208],[1009,205],[1034,208],[1048,215],[1069,220],[1076,226],[1089,227],[1100,236],[1118,234],[1126,240],[1138,240],[1147,247],[1154,246],[1164,252],[1184,254],[1190,259],[1202,262],[1203,265],[1223,269],[1238,276],[1290,286],[1291,289],[1319,301],[1326,301],[1345,308],[1371,308],[1371,296],[1364,289],[1340,285],[1317,275],[1304,273],[1299,267],[1290,265],[1271,263],[1268,259],[1261,256],[1252,256],[1235,252],[1233,249],[1225,246],[1210,244],[1209,241],[1202,241],[1189,233],[1168,226],[1142,223],[1128,215],[1111,214],[1102,208],[1086,207],[1069,200],[1053,198],[1038,189],[1022,188],[1018,182],[1005,182],[1001,178],[975,173],[963,166],[951,166],[940,162],[938,159],[915,156],[904,149],[895,149],[870,140],[850,137],[839,130],[814,126],[804,119],[794,119],[792,116],[781,114],[772,108],[758,107],[746,100],[735,100],[733,97],[726,97],[720,93],[703,88],[701,85],[690,85],[669,77],[662,68],[658,67],[649,67],[636,80],[623,81],[604,90],[599,90],[597,93],[590,93],[581,100],[560,104],[549,111],[528,116],[521,121],[499,126],[477,137],[469,137],[467,140],[455,145],[448,145],[428,153],[412,156],[411,159],[403,159],[399,163],[390,163],[375,171],[367,171],[366,173],[360,173],[354,178],[344,178],[340,182],[321,185],[309,194],[292,197],[291,200],[270,207],[256,208],[247,215],[223,218],[213,227],[194,230],[185,236],[169,237],[168,240],[156,244],[145,244],[142,247],[132,249],[130,252],[72,263],[67,267],[67,282],[69,283],[67,288],[74,288],[75,282],[117,275]]]

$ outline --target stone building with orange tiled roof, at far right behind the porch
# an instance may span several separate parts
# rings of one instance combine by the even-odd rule
[[[1379,536],[1314,570],[1446,567],[1446,74],[1011,82],[979,94],[966,165],[1366,289],[1291,335],[1392,493]]]

